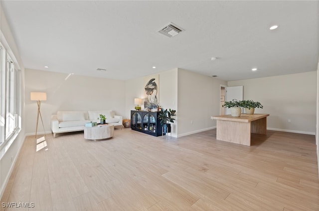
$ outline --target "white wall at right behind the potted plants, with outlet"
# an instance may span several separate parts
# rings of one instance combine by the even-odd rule
[[[244,99],[264,106],[256,113],[270,114],[268,129],[315,135],[317,71],[228,81],[237,85],[244,86]]]

